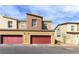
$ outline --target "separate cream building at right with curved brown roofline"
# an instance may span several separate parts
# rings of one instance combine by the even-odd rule
[[[55,40],[63,44],[79,44],[79,23],[67,22],[55,28]]]

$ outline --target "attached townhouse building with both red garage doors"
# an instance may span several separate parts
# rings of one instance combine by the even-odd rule
[[[0,44],[54,44],[51,21],[27,13],[26,20],[0,16]]]

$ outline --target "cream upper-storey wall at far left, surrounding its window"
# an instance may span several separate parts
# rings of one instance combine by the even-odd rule
[[[12,28],[8,28],[8,21],[12,21]],[[17,21],[0,16],[0,29],[17,29]]]

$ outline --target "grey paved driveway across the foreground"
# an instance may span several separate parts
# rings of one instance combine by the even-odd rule
[[[78,54],[79,46],[0,45],[0,54]]]

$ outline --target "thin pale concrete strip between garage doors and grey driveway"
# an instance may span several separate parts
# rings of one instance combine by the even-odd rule
[[[57,45],[57,44],[53,44],[53,45],[42,45],[42,44],[35,44],[35,45],[28,45],[28,44],[0,44],[0,46],[51,46],[51,47],[79,47],[79,45],[70,45],[70,44],[62,44],[62,45]]]

